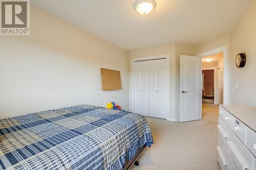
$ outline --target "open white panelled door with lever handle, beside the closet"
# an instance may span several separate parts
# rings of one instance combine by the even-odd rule
[[[200,57],[180,56],[180,122],[200,119]]]

